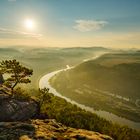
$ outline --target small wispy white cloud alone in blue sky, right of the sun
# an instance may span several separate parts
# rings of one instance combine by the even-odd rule
[[[81,32],[95,31],[104,27],[107,21],[96,21],[96,20],[76,20],[76,25],[74,29]]]

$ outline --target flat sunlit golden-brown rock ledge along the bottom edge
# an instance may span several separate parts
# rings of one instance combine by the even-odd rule
[[[55,120],[1,122],[1,140],[112,140],[111,137],[83,129],[66,127]]]

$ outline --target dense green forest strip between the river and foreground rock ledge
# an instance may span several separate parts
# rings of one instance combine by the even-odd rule
[[[39,97],[42,92],[44,91],[38,92]],[[48,91],[43,94],[45,94],[43,96],[45,100],[41,106],[41,113],[46,114],[48,118],[54,118],[67,126],[107,134],[115,140],[139,140],[140,138],[140,132],[137,130],[107,121],[54,96]]]

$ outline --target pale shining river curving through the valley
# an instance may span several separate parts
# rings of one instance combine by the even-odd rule
[[[96,57],[97,58],[97,57]],[[71,67],[73,68],[73,67]],[[86,111],[90,111],[92,113],[96,113],[97,115],[99,115],[100,117],[103,117],[105,118],[106,120],[109,120],[109,121],[112,121],[112,122],[115,122],[115,123],[118,123],[120,125],[127,125],[131,128],[134,128],[134,129],[138,129],[140,130],[140,123],[137,123],[137,122],[134,122],[134,121],[131,121],[131,120],[128,120],[128,119],[125,119],[125,118],[122,118],[122,117],[119,117],[113,113],[110,113],[110,112],[107,112],[107,111],[102,111],[102,110],[94,110],[92,107],[89,107],[89,106],[85,106],[83,104],[79,104],[77,102],[75,102],[74,100],[68,98],[68,97],[65,97],[65,96],[62,96],[59,92],[56,91],[55,88],[53,88],[50,83],[49,83],[49,80],[50,78],[52,78],[53,76],[55,76],[56,74],[58,74],[59,72],[61,71],[66,71],[70,69],[70,67],[67,65],[67,68],[66,69],[61,69],[61,70],[57,70],[57,71],[54,71],[54,72],[51,72],[51,73],[48,73],[46,75],[44,75],[40,81],[39,81],[39,88],[40,89],[43,89],[43,88],[49,88],[49,91],[50,93],[53,93],[55,96],[58,96],[60,98],[63,98],[65,99],[67,102],[70,102],[72,104],[75,104],[77,105],[78,107],[82,108],[82,109],[85,109]]]

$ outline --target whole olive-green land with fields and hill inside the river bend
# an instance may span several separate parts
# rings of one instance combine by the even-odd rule
[[[105,54],[51,79],[61,94],[140,122],[140,53]]]

